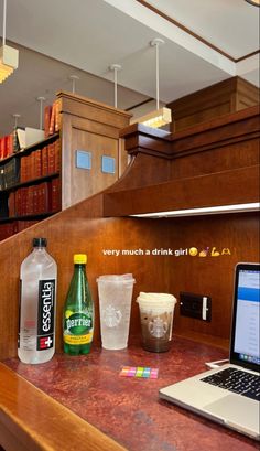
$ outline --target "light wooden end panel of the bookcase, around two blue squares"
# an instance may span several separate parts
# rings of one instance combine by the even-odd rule
[[[62,207],[89,197],[118,180],[127,167],[119,130],[127,127],[131,115],[94,100],[58,93],[62,117]],[[93,154],[90,170],[78,169],[75,151]],[[113,157],[116,173],[101,172],[101,154]]]

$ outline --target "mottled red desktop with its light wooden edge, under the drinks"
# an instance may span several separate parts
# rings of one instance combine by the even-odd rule
[[[42,365],[0,364],[0,444],[8,451],[252,451],[259,443],[159,399],[160,387],[227,357],[175,337],[167,353],[95,347]],[[158,379],[120,377],[122,366],[159,368]],[[115,440],[115,441],[113,441]]]

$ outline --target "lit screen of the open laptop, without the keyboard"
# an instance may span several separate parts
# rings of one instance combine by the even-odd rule
[[[237,265],[234,294],[230,362],[259,371],[260,265]]]

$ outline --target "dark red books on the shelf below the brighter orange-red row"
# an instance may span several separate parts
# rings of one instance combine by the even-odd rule
[[[20,187],[9,194],[9,217],[54,213],[59,210],[61,183],[58,179],[37,185]]]

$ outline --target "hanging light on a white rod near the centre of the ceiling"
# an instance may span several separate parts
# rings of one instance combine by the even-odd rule
[[[150,42],[152,47],[155,47],[156,55],[156,109],[148,115],[137,118],[131,124],[140,122],[148,127],[159,128],[166,126],[172,121],[172,111],[170,108],[160,108],[159,104],[159,46],[163,45],[164,41],[160,37]]]

